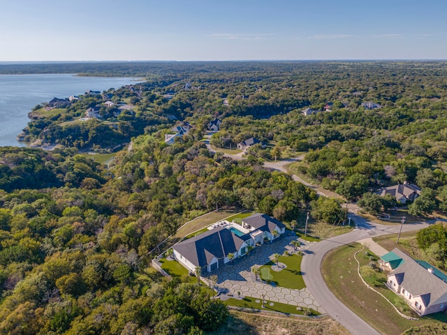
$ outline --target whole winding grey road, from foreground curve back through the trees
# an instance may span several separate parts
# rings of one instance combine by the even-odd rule
[[[215,152],[211,149],[209,141],[207,142],[207,148],[210,151]],[[242,157],[225,154],[224,156],[230,157],[236,160],[240,160]],[[290,158],[284,161],[277,162],[265,162],[264,167],[272,170],[279,170],[281,172],[286,172],[285,166],[294,161],[301,161],[304,155],[295,158]],[[337,193],[325,190],[319,186],[310,184],[309,182],[301,179],[300,177],[292,174],[295,181],[300,181],[300,183],[313,188],[318,195],[325,195],[330,197],[339,198]],[[377,223],[372,223],[361,216],[358,216],[356,212],[358,207],[356,204],[348,204],[349,217],[353,219],[356,223],[356,228],[346,234],[339,235],[337,237],[332,237],[331,239],[326,239],[320,241],[316,244],[310,246],[306,255],[302,258],[301,271],[303,273],[303,278],[305,284],[309,291],[314,295],[316,301],[323,306],[325,311],[335,320],[337,320],[341,325],[349,330],[352,334],[362,334],[362,335],[378,335],[379,332],[376,331],[372,326],[360,318],[356,313],[353,313],[349,308],[347,308],[342,301],[339,301],[337,297],[329,290],[328,285],[326,285],[323,276],[321,275],[321,263],[323,258],[334,248],[342,246],[343,244],[350,244],[360,239],[366,239],[368,237],[375,237],[384,234],[395,234],[399,231],[400,225],[379,225]],[[420,230],[426,228],[429,223],[416,223],[416,224],[406,224],[402,226],[402,232],[408,232],[411,230]]]

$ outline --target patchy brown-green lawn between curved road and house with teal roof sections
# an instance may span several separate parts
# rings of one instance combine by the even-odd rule
[[[414,334],[443,334],[439,329],[445,326],[441,322],[445,322],[446,315],[437,313],[417,321],[407,320],[402,318],[388,301],[362,283],[357,274],[357,262],[353,257],[354,253],[361,249],[360,244],[341,246],[330,251],[323,260],[321,272],[337,298],[381,334],[398,335],[411,328]],[[359,261],[362,254],[363,252],[358,253]],[[362,262],[369,262],[369,259]],[[420,332],[416,333],[416,327]],[[430,332],[429,327],[437,330]],[[405,334],[413,334],[413,331]]]

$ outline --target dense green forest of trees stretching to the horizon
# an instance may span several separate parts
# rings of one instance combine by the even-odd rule
[[[409,205],[412,214],[447,209],[447,63],[0,65],[0,73],[61,72],[147,80],[34,107],[27,140],[57,149],[0,148],[2,334],[216,329],[226,307],[184,278],[167,281],[152,271],[151,251],[216,207],[261,211],[285,223],[312,209],[315,219],[333,223],[337,200],[317,200],[290,175],[263,168],[286,152],[305,155],[297,173],[372,212],[396,203],[374,207],[369,191],[404,181],[423,188]],[[322,112],[305,116],[307,107]],[[89,108],[100,117],[81,121]],[[211,154],[202,139],[215,117],[222,124],[210,138],[214,147],[234,149],[251,136],[269,145],[240,161]],[[193,128],[168,145],[164,136],[182,121]],[[120,146],[108,168],[80,154]],[[434,234],[445,231],[427,236]],[[421,248],[437,248],[444,267],[445,243],[432,244],[420,238]]]

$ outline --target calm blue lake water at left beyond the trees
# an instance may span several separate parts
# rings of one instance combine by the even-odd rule
[[[135,78],[76,77],[75,75],[0,75],[0,147],[24,147],[16,137],[27,126],[28,113],[52,98],[78,96],[85,91],[117,89]]]

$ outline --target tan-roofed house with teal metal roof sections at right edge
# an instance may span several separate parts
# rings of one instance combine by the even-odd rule
[[[381,265],[390,270],[386,285],[419,315],[445,312],[447,276],[422,260],[413,260],[395,248],[381,257]]]

